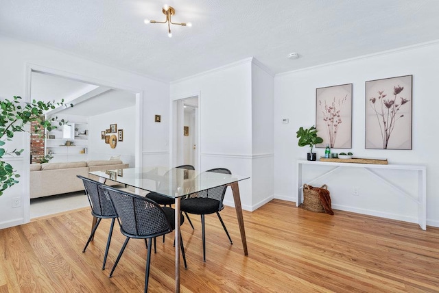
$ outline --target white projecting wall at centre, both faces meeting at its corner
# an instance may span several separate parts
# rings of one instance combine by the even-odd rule
[[[252,58],[171,84],[171,99],[200,92],[201,171],[250,176],[239,183],[250,211],[273,197],[273,85]],[[224,203],[234,205],[230,190]]]

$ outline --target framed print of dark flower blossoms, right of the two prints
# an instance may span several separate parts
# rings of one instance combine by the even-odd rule
[[[366,149],[412,149],[413,75],[366,81]]]

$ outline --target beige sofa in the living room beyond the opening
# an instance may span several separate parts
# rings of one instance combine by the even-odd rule
[[[43,163],[30,165],[30,198],[62,194],[84,190],[82,180],[76,175],[90,177],[90,171],[104,171],[113,169],[128,168],[120,160],[94,160],[88,162],[66,162],[66,163]],[[115,181],[106,181],[108,185],[117,184]]]

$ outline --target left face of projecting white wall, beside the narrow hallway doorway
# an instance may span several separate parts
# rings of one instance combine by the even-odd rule
[[[171,100],[200,92],[200,171],[228,168],[233,174],[252,170],[251,60],[171,84]],[[239,184],[243,209],[252,209],[251,179]],[[230,188],[224,201],[233,205]]]

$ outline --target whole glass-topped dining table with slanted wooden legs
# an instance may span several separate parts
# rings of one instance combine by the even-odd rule
[[[235,209],[241,233],[244,255],[248,255],[246,231],[242,216],[241,198],[238,182],[250,177],[228,175],[222,173],[203,172],[181,168],[154,166],[148,168],[125,168],[118,170],[93,171],[91,175],[99,177],[99,181],[116,181],[134,188],[136,193],[143,190],[157,192],[163,196],[175,199],[175,222],[180,222],[180,200],[189,194],[208,190],[218,186],[230,186],[235,201]],[[96,219],[93,219],[93,225]],[[92,225],[92,227],[93,227]],[[175,229],[175,241],[180,243],[180,229]],[[175,292],[180,292],[180,245],[175,245]]]

